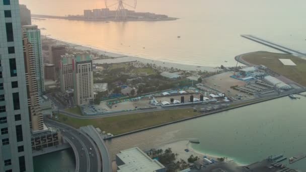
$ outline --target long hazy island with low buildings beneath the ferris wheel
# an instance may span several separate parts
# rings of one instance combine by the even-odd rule
[[[53,18],[67,20],[83,20],[83,21],[170,21],[178,18],[168,17],[155,13],[135,12],[133,10],[123,9],[120,11],[112,11],[109,9],[84,10],[83,15],[67,15],[67,16],[48,16],[48,15],[32,15],[33,18]]]

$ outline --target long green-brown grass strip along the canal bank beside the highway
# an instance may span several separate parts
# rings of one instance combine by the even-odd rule
[[[59,114],[58,121],[70,125],[74,128],[93,125],[95,127],[99,127],[102,131],[118,135],[147,127],[165,124],[172,121],[194,117],[197,115],[200,114],[198,112],[193,112],[193,109],[146,112],[99,119],[77,119]]]

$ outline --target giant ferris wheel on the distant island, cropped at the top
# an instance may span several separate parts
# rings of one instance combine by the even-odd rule
[[[126,10],[136,9],[137,0],[104,0],[107,9],[116,7],[116,20],[125,20]]]

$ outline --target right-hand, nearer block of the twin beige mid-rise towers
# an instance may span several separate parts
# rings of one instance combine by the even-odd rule
[[[93,61],[88,52],[74,53],[72,60],[74,104],[88,105],[94,102]]]

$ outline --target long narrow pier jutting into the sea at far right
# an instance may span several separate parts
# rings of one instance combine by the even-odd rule
[[[270,42],[270,41],[258,38],[258,37],[253,36],[253,35],[241,35],[241,36],[246,38],[246,39],[249,39],[249,40],[255,41],[257,43],[266,45],[266,46],[268,46],[270,48],[274,48],[276,50],[282,51],[282,52],[287,53],[287,54],[292,54],[292,55],[297,55],[297,56],[306,56],[305,53],[302,53],[302,52],[299,52],[297,50],[293,50],[291,48],[287,48],[287,47],[278,45],[276,43],[273,43],[273,42]]]

